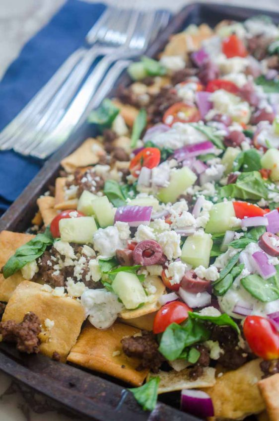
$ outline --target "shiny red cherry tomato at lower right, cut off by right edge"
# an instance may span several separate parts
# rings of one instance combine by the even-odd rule
[[[279,358],[279,334],[268,319],[261,316],[247,316],[243,332],[254,354],[264,359]]]

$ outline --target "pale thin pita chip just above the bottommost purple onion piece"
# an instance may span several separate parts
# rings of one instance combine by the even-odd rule
[[[182,389],[200,389],[213,386],[215,380],[215,369],[212,367],[204,368],[202,376],[196,380],[191,380],[190,368],[184,368],[181,371],[159,371],[156,374],[150,374],[149,377],[160,377],[158,393],[174,392],[175,390]]]

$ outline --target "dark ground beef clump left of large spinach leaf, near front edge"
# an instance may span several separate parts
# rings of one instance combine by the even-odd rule
[[[137,370],[150,368],[154,373],[159,371],[165,358],[158,351],[159,346],[151,332],[142,331],[142,336],[123,338],[121,343],[127,356],[137,357],[141,360]]]

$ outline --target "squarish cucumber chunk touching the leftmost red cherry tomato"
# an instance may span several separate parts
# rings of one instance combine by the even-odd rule
[[[61,240],[69,243],[92,243],[93,234],[97,229],[95,219],[92,216],[64,218],[59,221]]]

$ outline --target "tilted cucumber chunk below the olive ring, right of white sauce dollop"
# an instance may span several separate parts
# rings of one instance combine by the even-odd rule
[[[143,286],[135,274],[119,272],[112,282],[112,289],[129,310],[146,301]]]

